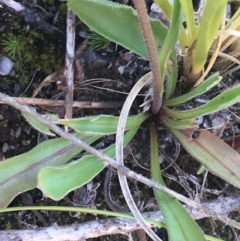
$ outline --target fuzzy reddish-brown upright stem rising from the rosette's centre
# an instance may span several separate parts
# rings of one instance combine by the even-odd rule
[[[152,112],[157,114],[162,105],[162,83],[161,73],[158,64],[157,48],[154,42],[153,32],[148,19],[147,9],[144,0],[134,0],[136,10],[138,12],[138,19],[143,32],[143,37],[146,43],[151,69],[153,73],[153,104]]]

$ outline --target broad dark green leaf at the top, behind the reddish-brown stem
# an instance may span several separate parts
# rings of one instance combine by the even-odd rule
[[[148,58],[137,13],[132,7],[107,0],[68,0],[68,6],[94,32]],[[167,28],[152,18],[151,26],[159,50]]]

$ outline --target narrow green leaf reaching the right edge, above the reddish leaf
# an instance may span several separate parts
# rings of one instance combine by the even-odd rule
[[[218,112],[220,110],[224,110],[229,106],[236,104],[237,102],[240,101],[239,93],[240,93],[240,85],[234,86],[229,90],[223,91],[217,97],[213,98],[212,100],[209,100],[208,103],[198,108],[195,108],[192,110],[186,110],[186,111],[175,111],[175,110],[171,110],[166,107],[163,107],[160,112],[162,115],[167,115],[168,117],[171,117],[173,119],[196,118],[199,116],[204,116],[204,115]]]

